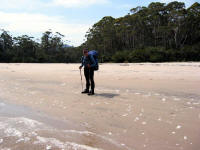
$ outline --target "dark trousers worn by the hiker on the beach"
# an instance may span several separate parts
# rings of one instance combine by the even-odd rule
[[[84,75],[86,80],[86,89],[90,89],[91,83],[91,90],[94,90],[94,69],[93,68],[84,68]]]

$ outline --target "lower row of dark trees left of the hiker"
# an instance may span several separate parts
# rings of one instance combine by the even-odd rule
[[[0,35],[0,62],[71,63],[80,62],[79,48],[64,45],[63,35],[51,31],[43,33],[38,42],[33,37],[12,37],[2,30]]]

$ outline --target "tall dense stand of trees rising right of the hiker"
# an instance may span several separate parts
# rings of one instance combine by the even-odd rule
[[[153,2],[121,18],[104,17],[86,34],[101,61],[200,61],[200,4]]]

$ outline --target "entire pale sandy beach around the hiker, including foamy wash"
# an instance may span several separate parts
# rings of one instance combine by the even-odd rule
[[[0,149],[199,150],[200,63],[78,66],[0,64]]]

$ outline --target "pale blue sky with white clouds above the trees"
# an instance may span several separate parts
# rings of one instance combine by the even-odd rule
[[[157,0],[168,3],[172,0]],[[186,7],[198,0],[180,0]],[[131,8],[148,6],[153,0],[0,0],[0,29],[13,36],[40,38],[48,29],[60,32],[78,46],[85,33],[104,16],[122,17]]]

